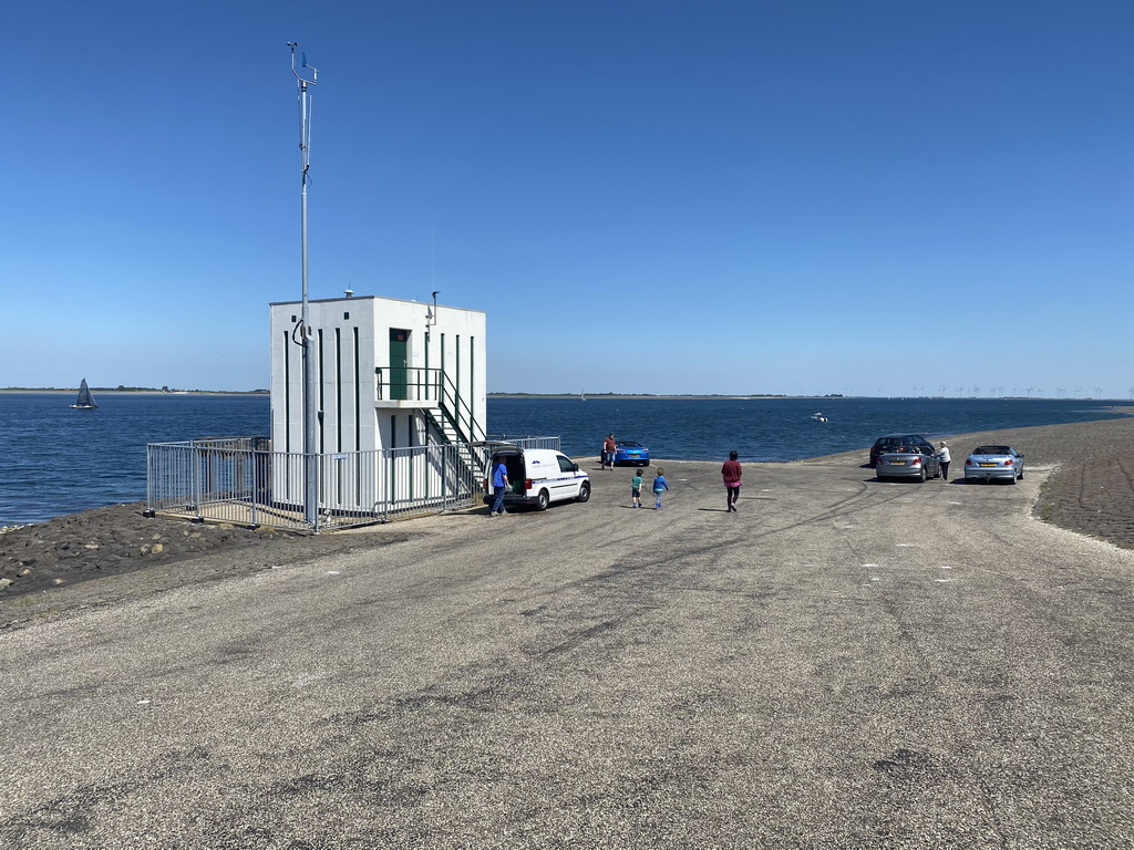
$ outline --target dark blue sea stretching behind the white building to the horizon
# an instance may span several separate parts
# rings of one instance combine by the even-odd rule
[[[146,443],[269,431],[265,396],[108,396],[71,410],[59,393],[0,393],[0,526],[145,499]],[[970,431],[1124,416],[1122,401],[1050,399],[489,399],[493,435],[556,435],[574,457],[602,439],[655,458],[784,461],[864,449],[891,431]],[[828,422],[811,419],[815,411]],[[1023,447],[1026,450],[1026,447]]]

